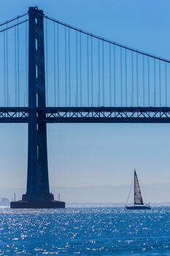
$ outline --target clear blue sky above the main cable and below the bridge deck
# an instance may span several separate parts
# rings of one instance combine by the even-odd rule
[[[0,1],[1,21],[26,12],[29,6],[170,59],[169,1],[7,0]],[[135,167],[141,185],[169,184],[170,192],[169,124],[48,124],[47,140],[51,187],[130,187]],[[0,142],[0,187],[26,187],[27,125],[1,124]]]

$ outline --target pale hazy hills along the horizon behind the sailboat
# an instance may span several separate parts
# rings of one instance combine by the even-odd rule
[[[115,186],[84,186],[84,187],[51,187],[55,199],[58,200],[58,193],[61,200],[66,203],[93,204],[93,203],[125,203],[130,189],[129,184]],[[144,203],[170,203],[170,183],[166,184],[141,184],[142,197]],[[9,200],[14,198],[21,199],[21,195],[26,192],[25,188],[0,188],[0,197],[7,197]],[[134,190],[128,203],[133,203]],[[156,199],[155,199],[156,198]]]

